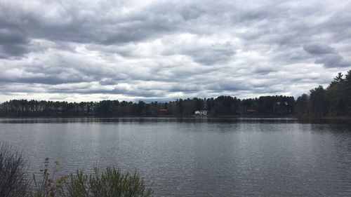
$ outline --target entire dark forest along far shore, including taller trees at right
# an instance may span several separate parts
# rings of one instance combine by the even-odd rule
[[[291,96],[261,96],[240,100],[232,96],[178,99],[171,102],[54,102],[10,100],[0,104],[2,117],[31,116],[351,116],[351,70],[338,75],[327,88],[319,86],[296,100]]]

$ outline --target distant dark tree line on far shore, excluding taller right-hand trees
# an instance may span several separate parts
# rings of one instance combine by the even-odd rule
[[[213,116],[244,114],[292,115],[295,100],[287,96],[264,96],[240,100],[237,97],[178,99],[171,102],[53,102],[10,100],[0,104],[0,116],[191,116],[206,110]]]

